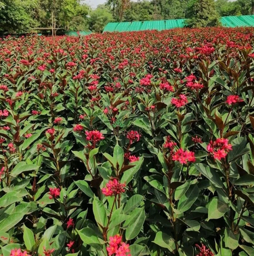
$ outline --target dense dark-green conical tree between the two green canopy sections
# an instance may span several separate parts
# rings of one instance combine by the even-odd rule
[[[188,27],[219,26],[219,14],[214,0],[196,0],[191,7],[192,18],[186,21]]]

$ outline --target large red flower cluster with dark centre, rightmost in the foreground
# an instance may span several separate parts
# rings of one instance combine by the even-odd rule
[[[207,151],[217,160],[226,158],[230,150],[232,150],[232,145],[228,144],[228,139],[216,139],[215,141],[210,141],[209,145],[207,145]]]

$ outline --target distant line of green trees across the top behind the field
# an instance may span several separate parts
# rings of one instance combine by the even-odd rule
[[[254,14],[254,0],[107,0],[92,10],[81,0],[0,0],[0,32],[38,27],[100,32],[108,22],[188,19],[189,26],[215,26],[219,16]]]

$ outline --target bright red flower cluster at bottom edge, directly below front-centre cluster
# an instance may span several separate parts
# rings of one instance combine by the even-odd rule
[[[125,242],[122,242],[121,236],[110,236],[109,240],[109,246],[107,247],[109,256],[131,256],[129,254],[129,244],[125,244]]]

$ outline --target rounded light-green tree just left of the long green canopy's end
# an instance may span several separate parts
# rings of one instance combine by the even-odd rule
[[[105,5],[99,5],[96,10],[91,12],[89,18],[89,29],[94,32],[102,32],[104,26],[108,24],[108,22],[112,22],[114,20],[110,10]]]

